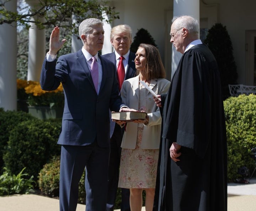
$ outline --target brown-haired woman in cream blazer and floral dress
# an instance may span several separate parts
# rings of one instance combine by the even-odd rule
[[[135,57],[138,76],[125,80],[121,89],[123,103],[130,109],[146,112],[146,120],[126,124],[121,144],[119,188],[130,189],[131,211],[141,210],[142,191],[146,191],[146,210],[153,209],[156,171],[159,155],[161,114],[153,95],[139,81],[144,81],[156,94],[166,94],[170,82],[165,77],[158,49],[140,44]],[[119,122],[121,124],[124,122]]]

